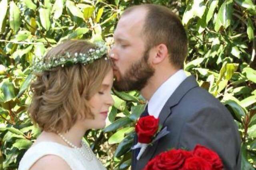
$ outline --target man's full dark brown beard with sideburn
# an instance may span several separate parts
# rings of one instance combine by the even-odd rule
[[[132,91],[143,89],[150,77],[154,75],[154,68],[148,64],[149,50],[146,50],[144,56],[137,62],[133,63],[119,80],[113,83],[117,91]]]

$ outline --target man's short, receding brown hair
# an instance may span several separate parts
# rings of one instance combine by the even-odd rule
[[[170,62],[178,68],[183,68],[188,53],[188,40],[178,16],[170,9],[155,4],[132,6],[127,8],[122,16],[142,8],[147,10],[142,30],[146,49],[164,43],[168,48]]]

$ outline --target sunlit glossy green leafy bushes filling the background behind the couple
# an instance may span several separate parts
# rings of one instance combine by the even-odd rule
[[[242,170],[255,168],[255,0],[1,0],[0,169],[17,169],[40,134],[26,112],[32,58],[69,38],[110,44],[122,11],[143,3],[161,4],[180,16],[189,38],[184,69],[228,107],[241,134]],[[136,91],[113,91],[113,97],[108,127],[90,130],[85,138],[108,169],[125,170],[145,101]]]

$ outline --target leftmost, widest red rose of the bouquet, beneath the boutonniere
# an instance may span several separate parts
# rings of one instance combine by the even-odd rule
[[[148,162],[144,170],[181,170],[185,160],[191,156],[191,152],[180,149],[162,152]]]

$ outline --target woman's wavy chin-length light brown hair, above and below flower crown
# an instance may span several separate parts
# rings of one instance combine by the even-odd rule
[[[53,47],[47,59],[69,53],[86,53],[95,45],[85,40],[67,40]],[[31,83],[32,101],[28,113],[34,124],[48,132],[66,132],[78,119],[93,119],[88,101],[100,89],[112,69],[105,56],[90,64],[77,63],[36,73]]]

